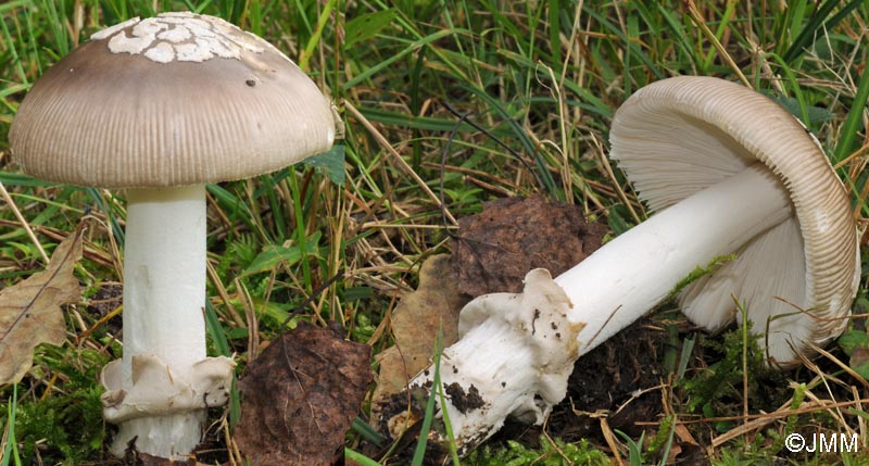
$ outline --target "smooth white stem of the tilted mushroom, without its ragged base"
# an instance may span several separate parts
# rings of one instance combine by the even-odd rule
[[[784,187],[758,162],[609,241],[555,278],[574,303],[570,318],[585,324],[580,355],[660,303],[696,267],[791,215]]]

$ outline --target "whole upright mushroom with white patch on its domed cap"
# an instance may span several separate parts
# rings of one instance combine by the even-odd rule
[[[316,85],[263,39],[216,17],[165,13],[101,30],[36,83],[10,130],[42,179],[127,189],[124,357],[103,370],[112,446],[181,459],[234,363],[206,357],[205,184],[329,150]]]

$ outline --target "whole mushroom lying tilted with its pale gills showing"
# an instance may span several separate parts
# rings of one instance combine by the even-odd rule
[[[577,357],[722,255],[736,259],[680,294],[694,323],[732,322],[735,295],[777,365],[798,362],[847,324],[859,278],[847,191],[785,110],[725,80],[670,78],[625,102],[610,139],[610,156],[659,213],[554,280],[531,270],[524,293],[463,308],[461,340],[440,358],[449,387],[440,407],[462,450],[508,415],[542,423]],[[432,377],[429,368],[410,386],[430,387]]]

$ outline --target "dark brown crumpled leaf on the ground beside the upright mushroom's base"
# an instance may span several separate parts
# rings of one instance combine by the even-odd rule
[[[371,381],[369,347],[302,323],[248,366],[235,440],[253,465],[328,466]]]

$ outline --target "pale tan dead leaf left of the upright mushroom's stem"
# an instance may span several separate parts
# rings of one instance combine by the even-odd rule
[[[39,343],[63,344],[66,325],[60,306],[81,300],[73,275],[81,259],[81,231],[63,240],[48,267],[0,291],[0,386],[17,383],[34,363]]]

